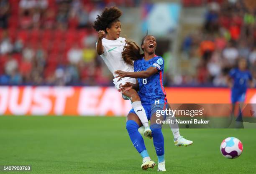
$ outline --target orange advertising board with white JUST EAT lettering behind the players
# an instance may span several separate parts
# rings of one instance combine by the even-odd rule
[[[230,103],[228,88],[165,90],[169,103]],[[256,103],[256,89],[246,103]],[[113,87],[0,86],[0,115],[125,116],[130,109]]]

